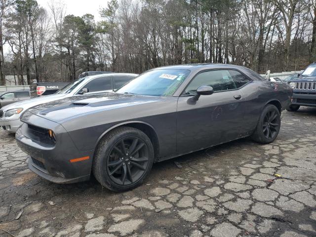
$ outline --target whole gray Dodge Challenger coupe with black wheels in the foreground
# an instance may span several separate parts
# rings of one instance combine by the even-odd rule
[[[154,162],[242,137],[273,142],[290,104],[286,83],[234,65],[147,71],[115,93],[82,95],[29,109],[16,140],[29,168],[55,183],[88,180],[122,192]]]

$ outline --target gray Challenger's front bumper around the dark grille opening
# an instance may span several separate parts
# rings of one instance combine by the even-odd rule
[[[94,151],[79,152],[68,133],[60,133],[61,128],[56,134],[57,141],[54,145],[29,138],[32,136],[29,136],[28,129],[28,124],[23,123],[15,138],[18,146],[30,156],[29,168],[33,172],[58,184],[76,183],[90,178]],[[89,158],[79,162],[70,161],[81,157]]]

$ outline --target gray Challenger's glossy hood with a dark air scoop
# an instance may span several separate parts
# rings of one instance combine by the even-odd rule
[[[141,96],[110,92],[98,95],[82,95],[64,98],[40,104],[31,108],[29,112],[51,121],[61,122],[62,120],[68,120],[82,115],[152,103],[161,100],[163,100],[163,98],[156,96]]]

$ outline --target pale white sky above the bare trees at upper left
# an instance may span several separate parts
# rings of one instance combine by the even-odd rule
[[[37,0],[40,6],[47,9],[48,2],[51,0]],[[59,0],[54,0],[59,1]],[[106,7],[110,0],[60,0],[64,2],[67,9],[67,15],[75,15],[75,16],[82,16],[86,13],[90,13],[94,15],[95,21],[101,20],[99,10],[102,7]]]

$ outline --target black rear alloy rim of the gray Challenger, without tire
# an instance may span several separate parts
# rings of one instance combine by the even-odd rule
[[[279,115],[276,113],[275,110],[272,109],[266,113],[262,127],[263,134],[267,139],[273,139],[277,135],[280,129],[280,124]]]

